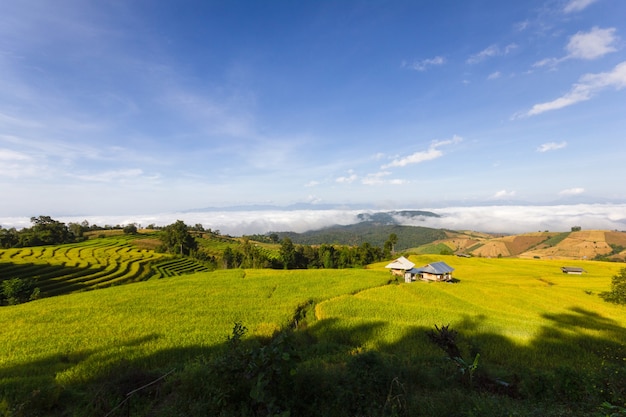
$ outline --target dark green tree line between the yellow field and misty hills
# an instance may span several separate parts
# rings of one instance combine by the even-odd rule
[[[5,229],[0,226],[0,247],[29,247],[42,245],[60,245],[85,240],[89,231],[123,229],[124,233],[137,233],[137,226],[104,226],[90,225],[86,220],[81,223],[65,224],[50,216],[31,217],[31,227],[21,230]],[[305,245],[294,244],[289,237],[280,239],[277,234],[258,240],[280,244],[278,251],[259,246],[256,240],[244,236],[238,245],[228,245],[222,253],[209,254],[198,244],[195,236],[204,235],[212,238],[223,237],[219,231],[205,230],[202,225],[186,225],[178,220],[165,227],[148,226],[159,230],[161,245],[159,252],[179,256],[190,256],[213,268],[274,268],[274,269],[307,269],[307,268],[352,268],[388,259],[394,252],[398,241],[395,234],[390,234],[383,247],[368,242],[360,245]],[[230,242],[234,240],[228,239]],[[221,256],[220,256],[221,255]]]

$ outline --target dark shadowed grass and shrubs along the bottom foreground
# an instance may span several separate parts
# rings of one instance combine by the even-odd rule
[[[413,327],[397,341],[365,349],[380,339],[387,323],[325,319],[285,331],[289,337],[278,342],[278,336],[245,335],[237,344],[233,335],[224,335],[218,346],[164,349],[134,360],[109,346],[10,365],[0,369],[0,411],[25,416],[285,411],[292,416],[583,416],[594,415],[604,401],[623,405],[626,330],[582,308],[544,318],[550,324],[525,345],[481,332],[485,317],[467,315],[451,323],[466,362],[480,354],[471,380],[464,377],[467,369],[429,341],[432,328]],[[129,339],[121,347],[141,348],[157,338]],[[90,364],[97,364],[93,372]],[[58,376],[73,369],[81,372],[59,383]],[[137,393],[132,403],[131,392]]]

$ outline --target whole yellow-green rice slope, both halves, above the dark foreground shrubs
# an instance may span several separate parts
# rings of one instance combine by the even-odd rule
[[[62,402],[120,363],[180,368],[213,352],[233,322],[267,336],[309,300],[317,303],[319,320],[309,331],[318,343],[377,349],[414,364],[441,356],[425,331],[450,323],[481,352],[481,366],[504,378],[572,362],[597,370],[606,359],[599,351],[626,340],[624,308],[597,296],[623,265],[581,262],[588,274],[571,276],[559,261],[411,256],[417,265],[441,259],[456,268],[459,284],[384,285],[385,263],[370,270],[231,270],[3,307],[0,402],[34,393]]]

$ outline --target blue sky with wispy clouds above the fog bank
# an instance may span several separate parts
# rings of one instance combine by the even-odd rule
[[[626,2],[4,2],[0,216],[626,201]]]

